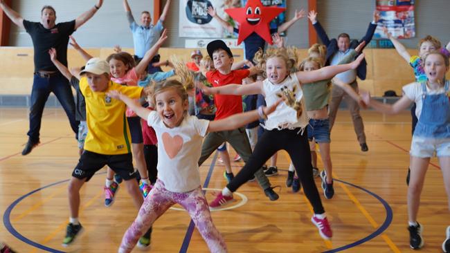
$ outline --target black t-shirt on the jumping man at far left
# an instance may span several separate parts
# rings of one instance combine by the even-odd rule
[[[57,71],[48,55],[50,48],[56,49],[58,61],[67,66],[67,44],[69,35],[75,31],[75,20],[58,23],[51,29],[44,28],[39,22],[28,20],[24,20],[24,26],[35,48],[35,71]]]

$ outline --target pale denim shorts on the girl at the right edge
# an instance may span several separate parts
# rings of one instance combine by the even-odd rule
[[[424,138],[413,135],[411,141],[411,156],[431,158],[433,156],[450,156],[449,138]]]

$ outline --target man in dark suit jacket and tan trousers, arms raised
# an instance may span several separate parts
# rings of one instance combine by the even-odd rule
[[[370,40],[372,39],[373,33],[375,32],[375,28],[377,28],[377,21],[379,19],[377,12],[374,12],[374,21],[369,24],[366,35],[360,41],[357,41],[356,39],[350,40],[350,36],[347,33],[341,33],[337,39],[328,38],[327,33],[325,32],[321,24],[317,21],[317,12],[315,12],[314,10],[309,12],[308,18],[312,22],[312,25],[314,26],[318,37],[321,38],[322,43],[327,46],[325,66],[339,64],[341,59],[343,59],[345,55],[348,55],[348,53],[350,53],[350,49],[356,48],[361,42],[365,41],[366,45],[369,44]],[[350,86],[352,86],[352,88],[358,92],[357,77],[359,77],[361,80],[366,79],[366,66],[367,62],[366,59],[364,59],[356,70],[345,71],[344,73],[336,75],[335,78],[339,78],[343,82],[350,84]],[[352,98],[337,85],[333,86],[332,101],[330,102],[329,106],[330,131],[333,127],[334,120],[336,119],[336,113],[337,109],[339,108],[339,104],[341,104],[341,101],[343,99],[348,104],[350,114],[352,115],[354,131],[355,133],[357,133],[361,151],[368,151],[369,148],[366,143],[366,133],[364,133],[363,119],[359,114],[359,104],[357,101],[352,100]]]

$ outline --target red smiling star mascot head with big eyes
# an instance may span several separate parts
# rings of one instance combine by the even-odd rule
[[[272,44],[269,23],[283,11],[285,11],[285,8],[265,7],[260,0],[249,0],[244,8],[225,10],[230,17],[240,24],[237,44],[241,44],[253,32],[260,35],[267,43]]]

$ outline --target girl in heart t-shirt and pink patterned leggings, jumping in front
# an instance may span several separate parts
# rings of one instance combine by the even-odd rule
[[[156,111],[148,111],[126,95],[108,93],[110,97],[123,100],[139,117],[146,119],[158,138],[158,179],[136,220],[125,232],[119,252],[131,252],[156,218],[174,204],[188,211],[210,252],[226,252],[224,239],[213,224],[201,191],[198,166],[201,142],[208,132],[237,129],[271,113],[281,100],[260,111],[208,121],[188,115],[188,93],[176,80],[156,84],[153,94]]]

